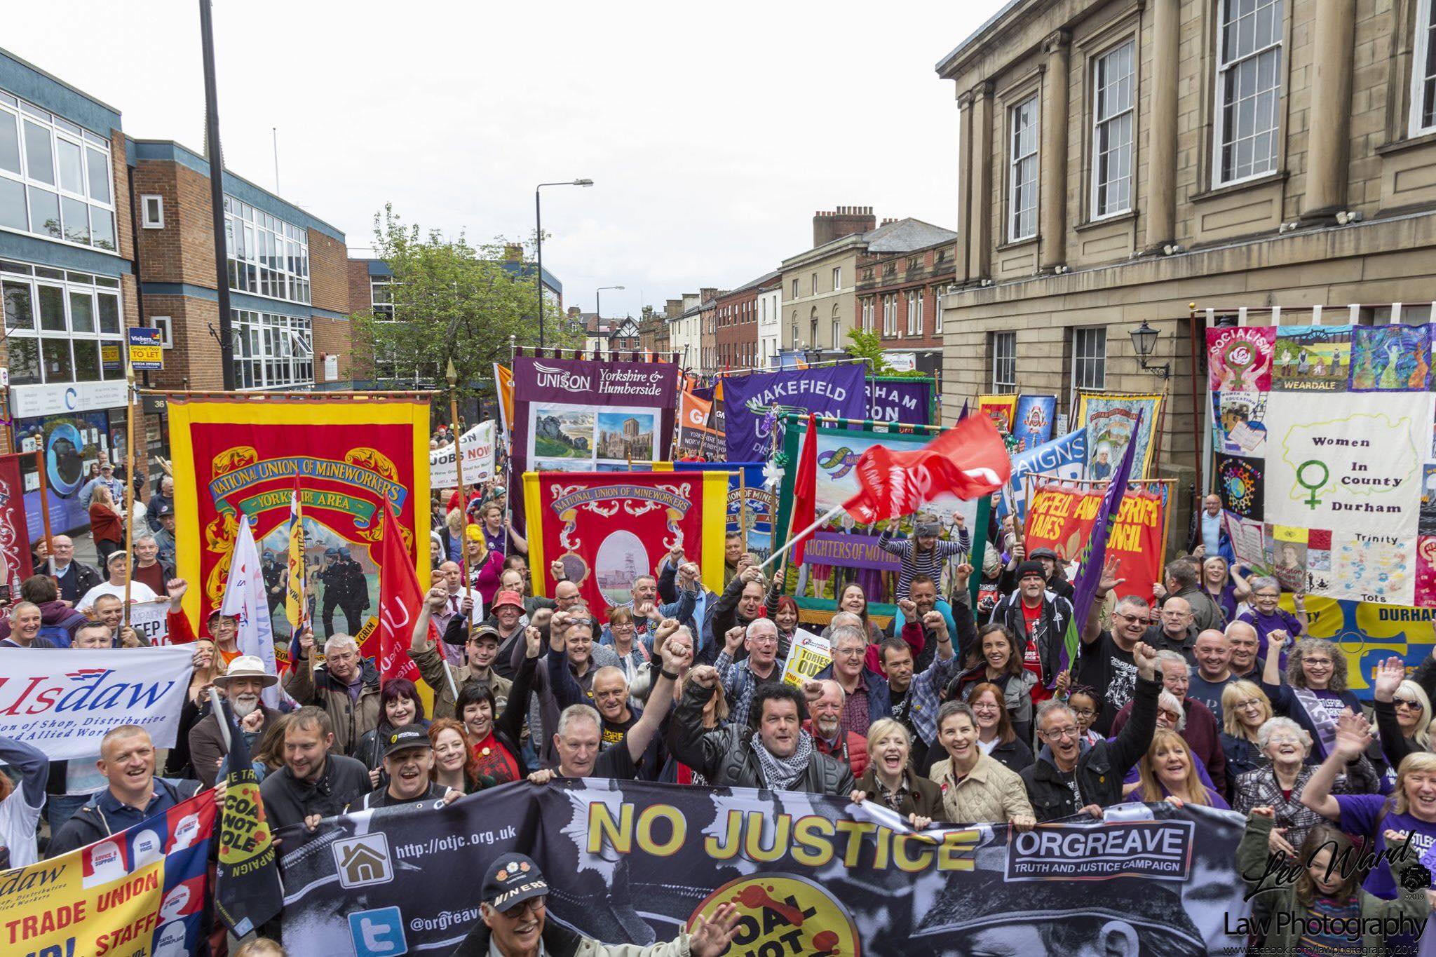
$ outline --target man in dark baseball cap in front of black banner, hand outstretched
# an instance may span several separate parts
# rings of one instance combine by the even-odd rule
[[[454,951],[454,957],[537,957],[538,954],[589,954],[592,957],[718,957],[738,930],[738,910],[721,904],[712,920],[694,920],[692,934],[648,947],[610,947],[549,924],[549,882],[534,861],[523,854],[500,854],[484,875],[481,924]]]

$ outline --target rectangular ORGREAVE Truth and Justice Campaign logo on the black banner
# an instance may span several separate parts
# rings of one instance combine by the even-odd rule
[[[1192,869],[1190,821],[1040,825],[1008,832],[1005,881],[1153,877],[1185,881]]]

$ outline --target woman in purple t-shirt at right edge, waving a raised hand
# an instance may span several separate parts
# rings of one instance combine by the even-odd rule
[[[1335,821],[1344,832],[1364,836],[1376,854],[1386,851],[1386,831],[1406,832],[1410,835],[1410,849],[1406,854],[1414,854],[1420,859],[1436,845],[1436,755],[1407,755],[1396,772],[1396,791],[1390,798],[1331,793],[1337,775],[1346,769],[1347,762],[1366,752],[1370,733],[1371,726],[1360,715],[1341,716],[1331,752],[1307,782],[1301,803]],[[1402,851],[1393,848],[1393,854]],[[1384,858],[1371,868],[1364,887],[1383,900],[1396,897],[1396,881]],[[1396,948],[1393,953],[1416,953],[1414,943],[1414,938],[1387,938],[1387,946]]]

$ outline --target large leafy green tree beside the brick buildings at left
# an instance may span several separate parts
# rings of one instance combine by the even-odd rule
[[[503,241],[474,247],[464,234],[448,240],[438,230],[424,232],[388,204],[373,220],[375,255],[393,273],[393,317],[368,308],[350,317],[359,377],[391,387],[415,380],[442,387],[452,360],[464,400],[493,376],[493,363],[508,362],[510,337],[521,346],[538,341],[537,270],[507,260]],[[559,308],[544,306],[546,344],[573,347]]]

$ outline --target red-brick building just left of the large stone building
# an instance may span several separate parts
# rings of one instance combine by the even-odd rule
[[[939,296],[952,283],[958,234],[922,220],[889,220],[857,254],[859,324],[890,362],[942,376]]]

